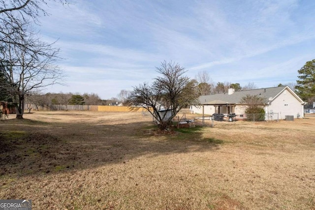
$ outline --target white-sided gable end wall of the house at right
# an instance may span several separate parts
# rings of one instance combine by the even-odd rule
[[[286,115],[293,115],[297,118],[298,114],[303,117],[303,105],[288,91],[284,90],[267,107],[268,112],[279,113],[279,119],[285,119]]]

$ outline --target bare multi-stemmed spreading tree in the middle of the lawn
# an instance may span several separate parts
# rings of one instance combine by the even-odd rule
[[[130,92],[126,103],[133,109],[145,108],[158,121],[160,130],[166,129],[171,120],[187,104],[196,102],[197,94],[192,94],[193,83],[183,76],[184,67],[173,62],[161,62],[157,67],[161,75],[154,79],[152,85],[143,83]],[[166,118],[166,112],[171,111],[171,116]]]

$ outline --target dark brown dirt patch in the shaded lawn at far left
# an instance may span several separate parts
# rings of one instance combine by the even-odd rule
[[[56,171],[56,167],[73,167],[75,151],[56,136],[34,132],[12,137],[4,132],[1,141],[0,175],[26,176]]]

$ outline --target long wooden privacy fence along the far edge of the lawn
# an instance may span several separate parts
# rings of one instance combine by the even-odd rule
[[[69,111],[103,111],[103,112],[129,112],[135,111],[131,110],[128,106],[101,106],[101,105],[41,105],[36,107],[35,104],[25,104],[24,110],[29,111],[59,111],[59,110],[69,110]],[[146,112],[146,109],[140,108],[137,112]]]

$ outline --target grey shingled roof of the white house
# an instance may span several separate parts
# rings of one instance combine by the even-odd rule
[[[305,104],[305,102],[287,86],[236,91],[232,94],[218,93],[213,95],[203,95],[199,97],[199,102],[203,105],[239,104],[241,99],[246,95],[258,95],[260,97],[266,98],[265,103],[269,103],[284,90],[288,90],[294,97],[296,97],[298,101],[300,101],[300,103]],[[224,103],[218,104],[217,102],[219,100]]]

